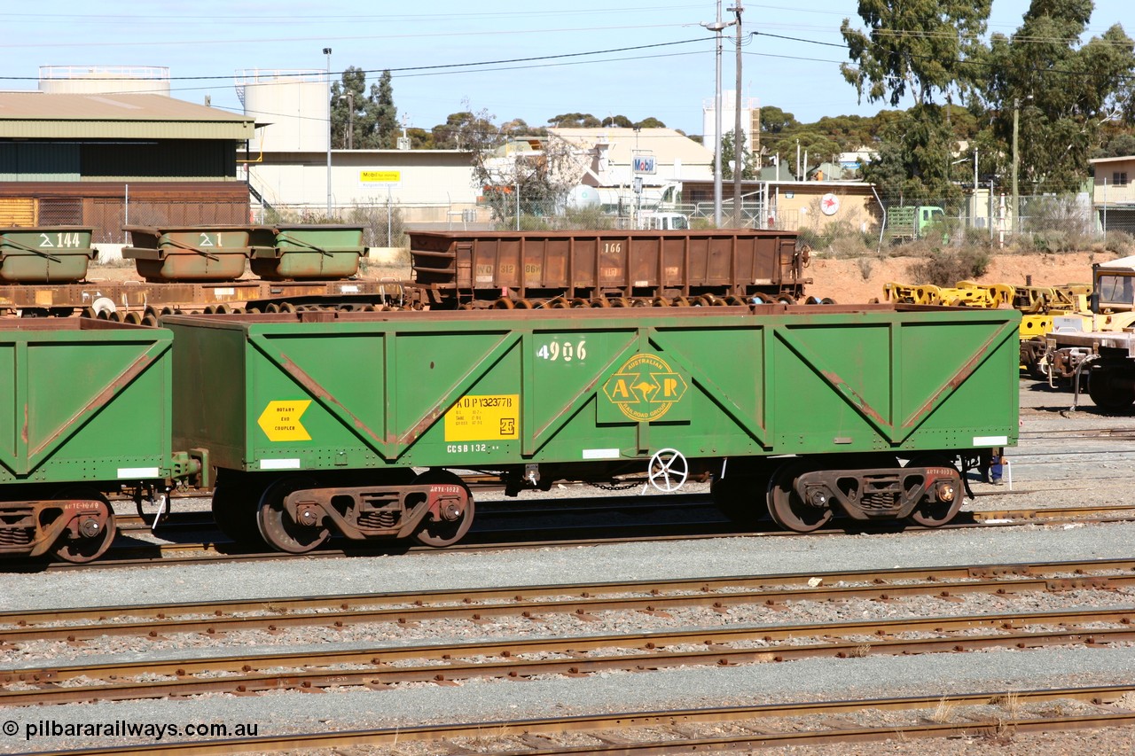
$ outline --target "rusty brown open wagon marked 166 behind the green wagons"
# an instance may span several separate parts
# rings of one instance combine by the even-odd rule
[[[410,232],[414,283],[434,308],[619,304],[804,294],[794,232],[762,229]]]

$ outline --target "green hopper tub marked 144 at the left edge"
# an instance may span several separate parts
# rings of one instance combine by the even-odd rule
[[[0,284],[73,284],[86,278],[90,228],[0,228]]]

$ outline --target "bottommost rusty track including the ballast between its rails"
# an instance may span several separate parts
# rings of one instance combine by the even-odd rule
[[[1135,686],[799,702],[587,716],[424,724],[371,730],[295,732],[258,738],[161,742],[123,748],[41,751],[44,756],[144,754],[212,756],[359,746],[396,747],[429,742],[445,753],[512,753],[522,756],[568,754],[675,754],[771,746],[819,746],[890,739],[1003,739],[1007,733],[1128,726],[1135,713],[1113,705]],[[1054,715],[1045,705],[1079,709]],[[1119,709],[1119,711],[1117,711]],[[889,713],[885,725],[858,725],[864,714]],[[944,720],[944,721],[943,721]],[[580,745],[585,742],[586,745]]]

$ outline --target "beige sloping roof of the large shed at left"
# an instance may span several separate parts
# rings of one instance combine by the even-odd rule
[[[254,121],[161,94],[0,92],[0,138],[247,140]]]

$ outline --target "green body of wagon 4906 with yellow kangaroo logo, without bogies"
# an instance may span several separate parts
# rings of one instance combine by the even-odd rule
[[[914,452],[1016,442],[1000,310],[166,319],[175,446],[242,471]],[[328,317],[328,316],[319,316]]]

